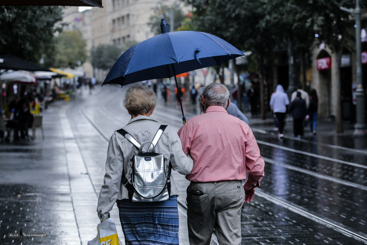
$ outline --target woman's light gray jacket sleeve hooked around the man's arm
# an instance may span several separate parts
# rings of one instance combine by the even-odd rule
[[[193,160],[188,153],[185,153],[182,150],[181,140],[178,137],[177,133],[170,128],[171,135],[171,157],[170,162],[172,164],[172,168],[182,175],[188,175],[191,173],[193,167]],[[188,156],[186,156],[188,155]]]

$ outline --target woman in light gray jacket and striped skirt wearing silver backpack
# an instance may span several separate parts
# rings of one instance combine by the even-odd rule
[[[126,91],[124,107],[131,120],[109,142],[106,174],[97,213],[103,222],[116,203],[129,244],[179,244],[178,189],[171,169],[187,175],[193,160],[183,153],[170,126],[150,117],[157,103],[147,87]]]

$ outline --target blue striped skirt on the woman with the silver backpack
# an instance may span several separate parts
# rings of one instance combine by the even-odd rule
[[[126,245],[175,245],[178,242],[177,196],[163,202],[117,202]]]

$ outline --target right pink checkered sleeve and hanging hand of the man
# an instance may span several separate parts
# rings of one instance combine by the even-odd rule
[[[257,145],[254,134],[248,128],[247,142],[245,142],[246,149],[246,171],[248,173],[247,180],[244,184],[245,190],[252,190],[260,186],[262,177],[264,176],[265,162],[260,155],[260,149]]]

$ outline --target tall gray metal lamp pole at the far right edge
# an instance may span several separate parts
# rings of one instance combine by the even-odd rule
[[[356,90],[356,124],[354,125],[355,134],[366,133],[364,90],[362,84],[362,54],[361,54],[361,9],[359,0],[356,0],[354,11],[356,19],[356,68],[357,68],[357,90]]]

